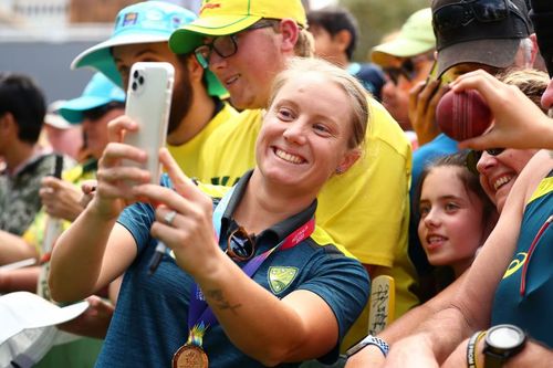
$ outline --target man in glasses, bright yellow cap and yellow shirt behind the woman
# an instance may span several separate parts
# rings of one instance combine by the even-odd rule
[[[261,128],[274,75],[291,56],[312,52],[305,11],[299,0],[205,1],[198,20],[174,32],[169,46],[205,59],[243,109],[239,118],[213,132],[201,157],[200,181],[233,185],[254,166],[254,144]],[[336,174],[319,196],[317,223],[374,277],[390,274],[396,282],[396,315],[417,303],[409,291],[415,272],[407,257],[410,147],[388,113],[369,98],[371,129],[364,159]],[[359,221],[362,225],[359,225]],[[346,337],[346,347],[363,337],[368,311]]]

